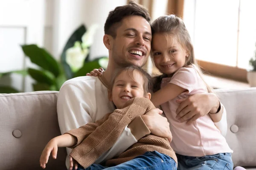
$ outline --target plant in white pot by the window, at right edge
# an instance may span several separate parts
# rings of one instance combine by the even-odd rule
[[[254,51],[254,56],[249,60],[249,64],[251,68],[247,71],[247,80],[250,87],[256,87],[256,50]]]

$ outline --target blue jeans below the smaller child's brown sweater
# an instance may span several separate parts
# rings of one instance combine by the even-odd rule
[[[100,164],[92,164],[83,168],[79,165],[78,170],[177,170],[176,162],[165,154],[157,151],[146,152],[143,155],[116,165],[114,167],[103,167]]]

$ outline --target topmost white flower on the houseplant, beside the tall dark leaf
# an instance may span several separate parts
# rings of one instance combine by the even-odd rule
[[[83,48],[88,48],[93,44],[93,37],[94,34],[96,32],[96,29],[99,26],[96,24],[93,24],[92,26],[90,26],[90,28],[88,28],[88,30],[84,33],[84,35],[82,36],[82,47]]]

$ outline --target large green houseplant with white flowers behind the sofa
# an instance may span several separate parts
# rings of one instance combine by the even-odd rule
[[[85,76],[93,68],[106,68],[108,57],[90,59],[90,46],[93,43],[93,34],[96,26],[86,30],[81,25],[67,40],[61,53],[60,61],[57,61],[48,51],[35,44],[21,45],[24,54],[29,57],[37,68],[27,68],[21,71],[0,73],[0,78],[8,74],[29,75],[35,80],[34,91],[59,91],[61,85],[74,77]],[[12,87],[0,86],[0,93],[17,93]]]

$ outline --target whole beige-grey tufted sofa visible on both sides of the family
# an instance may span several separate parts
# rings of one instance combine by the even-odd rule
[[[227,110],[234,165],[256,170],[256,88],[215,92]],[[44,146],[60,135],[57,96],[57,91],[0,94],[0,170],[41,170]],[[66,154],[59,148],[46,169],[64,170]]]

